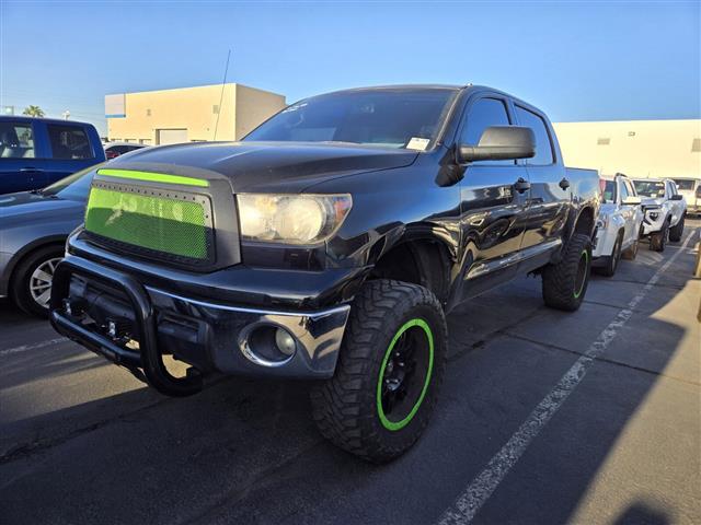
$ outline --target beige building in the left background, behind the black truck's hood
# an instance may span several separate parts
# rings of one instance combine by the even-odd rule
[[[105,96],[110,141],[150,145],[238,140],[284,107],[283,95],[233,83]]]

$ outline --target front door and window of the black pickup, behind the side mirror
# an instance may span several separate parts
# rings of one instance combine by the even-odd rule
[[[505,97],[480,94],[466,107],[457,142],[476,145],[490,126],[513,124]],[[515,161],[472,162],[463,168],[460,221],[466,285],[461,299],[468,299],[494,281],[515,277],[529,191],[526,167]]]

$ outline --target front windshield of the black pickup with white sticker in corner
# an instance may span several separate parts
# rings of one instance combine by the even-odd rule
[[[353,142],[425,150],[458,90],[378,89],[314,96],[283,109],[244,141]]]

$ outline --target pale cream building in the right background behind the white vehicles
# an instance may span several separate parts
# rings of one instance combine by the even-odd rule
[[[701,120],[553,124],[565,164],[631,177],[701,178]]]

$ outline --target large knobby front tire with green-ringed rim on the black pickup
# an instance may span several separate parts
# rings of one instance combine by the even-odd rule
[[[406,452],[434,411],[447,340],[432,292],[387,279],[366,283],[353,303],[335,375],[311,392],[322,435],[374,463]]]

